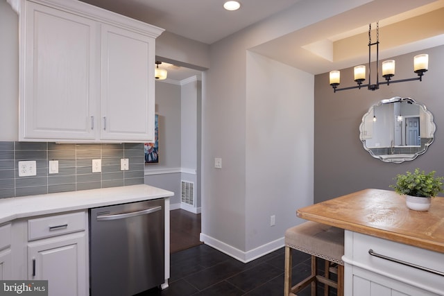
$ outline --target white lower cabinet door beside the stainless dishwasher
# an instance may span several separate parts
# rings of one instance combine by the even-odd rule
[[[49,281],[50,296],[81,296],[87,291],[85,232],[28,243],[28,279]]]

